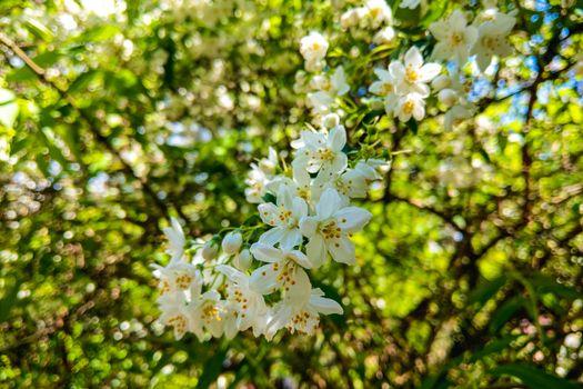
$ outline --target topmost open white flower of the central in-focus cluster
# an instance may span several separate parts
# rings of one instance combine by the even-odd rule
[[[345,144],[346,130],[343,126],[334,127],[329,133],[302,131],[301,138],[292,142],[292,147],[298,149],[292,166],[310,173],[342,171],[348,163],[348,157],[342,152]]]

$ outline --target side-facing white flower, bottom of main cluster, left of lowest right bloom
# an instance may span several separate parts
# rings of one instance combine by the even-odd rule
[[[244,331],[253,328],[253,335],[261,335],[267,325],[268,307],[263,295],[251,286],[248,275],[227,265],[220,265],[217,270],[228,279],[227,301],[229,308],[237,315],[237,329]]]

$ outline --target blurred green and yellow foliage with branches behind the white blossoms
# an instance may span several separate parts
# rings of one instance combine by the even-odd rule
[[[478,6],[429,3],[394,4],[400,47],[430,52],[431,21]],[[310,30],[363,70],[354,90],[399,51],[340,30],[338,0],[1,1],[0,386],[581,385],[583,2],[499,6],[519,12],[515,54],[474,119],[394,126],[345,98],[349,142],[393,153],[358,265],[314,275],[345,316],[199,343],[154,323],[168,217],[209,237],[253,215],[249,163],[309,121],[293,86]]]

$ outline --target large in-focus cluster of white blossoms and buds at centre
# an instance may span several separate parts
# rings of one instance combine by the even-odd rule
[[[265,229],[257,241],[250,240],[253,228],[241,227],[224,235],[220,249],[213,240],[199,245],[195,259],[189,261],[187,239],[172,219],[164,230],[171,260],[165,267],[154,265],[154,276],[161,295],[159,321],[172,327],[177,339],[187,332],[201,341],[209,336],[231,338],[247,329],[267,339],[283,328],[313,333],[320,315],[343,312],[312,287],[308,271],[328,258],[355,263],[350,237],[371,213],[353,206],[352,199],[366,196],[383,164],[359,160],[349,167],[345,143],[343,126],[310,129],[292,143],[296,151],[291,172],[282,172],[273,149],[251,166],[245,194],[258,203],[259,227]]]

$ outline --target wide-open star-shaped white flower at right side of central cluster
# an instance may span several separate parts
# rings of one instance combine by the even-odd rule
[[[308,258],[318,267],[330,252],[335,261],[353,265],[355,248],[349,235],[362,229],[372,215],[358,207],[342,207],[342,199],[334,189],[324,190],[315,213],[300,222],[303,235],[310,239],[305,247]]]

